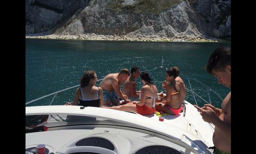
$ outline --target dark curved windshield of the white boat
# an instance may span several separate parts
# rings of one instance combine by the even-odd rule
[[[134,113],[129,113],[134,114]],[[26,133],[48,131],[59,129],[60,127],[88,127],[88,126],[122,126],[137,127],[133,124],[113,120],[109,118],[88,117],[69,114],[50,114],[50,115],[27,115],[26,116]],[[67,128],[69,129],[69,128]]]

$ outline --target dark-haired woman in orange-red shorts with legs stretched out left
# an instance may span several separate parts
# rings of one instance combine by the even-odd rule
[[[155,112],[155,99],[157,97],[157,88],[151,82],[148,72],[140,74],[144,86],[140,89],[140,101],[134,101],[125,105],[103,107],[107,109],[117,109],[121,111],[133,111],[141,115],[150,115]]]

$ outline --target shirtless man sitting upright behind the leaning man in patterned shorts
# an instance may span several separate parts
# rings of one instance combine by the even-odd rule
[[[136,66],[131,68],[131,76],[129,76],[123,87],[123,93],[128,96],[129,100],[139,100],[140,91],[137,90],[137,84],[135,80],[139,77],[140,71]]]

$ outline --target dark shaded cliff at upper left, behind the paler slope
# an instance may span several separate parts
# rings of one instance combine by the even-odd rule
[[[26,34],[47,32],[90,0],[26,0]]]

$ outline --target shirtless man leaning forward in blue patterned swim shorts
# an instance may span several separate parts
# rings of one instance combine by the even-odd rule
[[[122,82],[124,82],[130,75],[128,69],[124,68],[119,73],[110,73],[103,78],[99,87],[103,91],[104,106],[120,105],[120,99],[125,101],[128,97],[124,95],[120,89]]]

